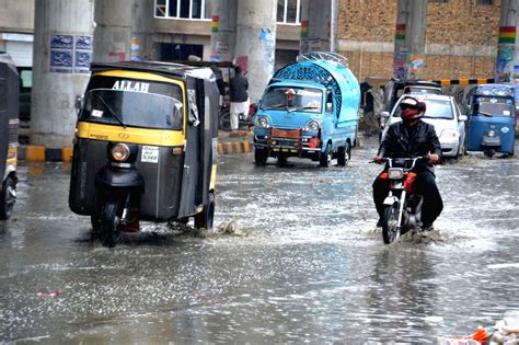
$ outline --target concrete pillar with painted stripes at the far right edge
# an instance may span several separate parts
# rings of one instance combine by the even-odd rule
[[[501,0],[499,38],[497,43],[496,81],[519,83],[519,47],[516,39],[519,0]]]

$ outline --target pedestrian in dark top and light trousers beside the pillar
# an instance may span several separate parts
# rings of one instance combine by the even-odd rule
[[[249,81],[242,74],[242,68],[240,66],[234,67],[234,77],[229,82],[230,95],[231,95],[231,130],[237,130],[240,124],[240,114],[244,115],[244,118],[249,116]]]

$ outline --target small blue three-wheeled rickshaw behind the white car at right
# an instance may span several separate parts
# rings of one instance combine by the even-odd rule
[[[466,149],[483,151],[487,157],[496,152],[514,156],[517,123],[514,87],[481,84],[469,91],[466,100]]]

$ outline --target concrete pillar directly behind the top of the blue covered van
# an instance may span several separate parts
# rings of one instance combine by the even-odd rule
[[[335,51],[337,18],[337,0],[303,0],[301,3],[301,53]]]

